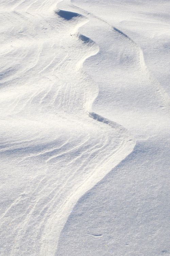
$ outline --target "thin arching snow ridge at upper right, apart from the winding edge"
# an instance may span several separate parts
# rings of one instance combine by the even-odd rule
[[[75,9],[80,10],[81,12],[85,13],[86,15],[90,15],[91,17],[94,17],[102,22],[104,22],[105,24],[107,24],[109,27],[111,27],[116,33],[122,35],[124,38],[126,38],[127,40],[131,41],[131,43],[136,47],[138,56],[139,56],[139,63],[141,66],[141,69],[146,72],[146,75],[148,76],[149,80],[151,80],[151,82],[153,83],[153,85],[156,88],[157,94],[159,94],[159,96],[162,98],[163,102],[164,102],[164,107],[169,108],[170,107],[170,97],[168,95],[168,93],[166,92],[166,90],[162,87],[162,85],[156,80],[156,78],[152,75],[152,73],[149,71],[146,63],[145,63],[145,59],[144,59],[144,55],[143,55],[143,51],[141,49],[141,47],[131,38],[129,37],[129,35],[125,34],[123,31],[121,31],[120,29],[116,28],[115,26],[112,26],[111,24],[109,24],[106,20],[96,16],[93,13],[87,12],[86,10],[72,5]]]

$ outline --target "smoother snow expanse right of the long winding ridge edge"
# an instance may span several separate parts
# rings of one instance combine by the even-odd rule
[[[154,79],[154,66],[147,67],[144,61],[150,56],[155,64],[159,60],[150,37],[161,32],[164,37],[153,37],[152,41],[154,46],[158,44],[166,69],[167,49],[159,46],[166,37],[169,40],[165,10],[169,3],[72,2],[79,6],[77,12],[90,18],[80,32],[100,45],[99,53],[84,63],[84,70],[99,87],[92,106],[98,115],[94,116],[116,120],[131,130],[137,142],[133,152],[75,205],[61,232],[56,255],[169,254],[169,96],[162,79]],[[167,13],[165,25],[163,11]],[[155,21],[154,15],[159,19]],[[159,30],[157,24],[167,30]]]

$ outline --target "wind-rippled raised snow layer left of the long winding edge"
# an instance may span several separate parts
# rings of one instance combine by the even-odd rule
[[[99,46],[78,31],[88,19],[55,1],[0,5],[1,255],[52,256],[75,203],[135,141],[92,110],[98,86],[82,65]]]

